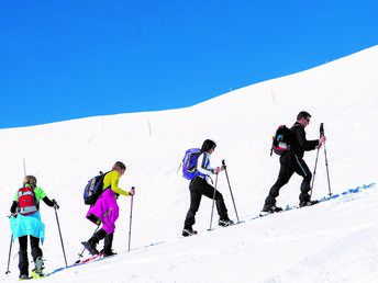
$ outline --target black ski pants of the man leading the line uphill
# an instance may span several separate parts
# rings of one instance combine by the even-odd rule
[[[276,197],[279,195],[279,190],[289,182],[291,176],[296,172],[297,174],[303,177],[303,181],[300,186],[300,202],[310,201],[310,190],[311,190],[311,178],[312,173],[301,157],[293,155],[291,152],[285,152],[280,158],[280,169],[276,183],[270,188],[269,195],[265,200],[265,205],[275,205]]]

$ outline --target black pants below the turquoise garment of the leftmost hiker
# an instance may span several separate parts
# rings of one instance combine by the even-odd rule
[[[27,259],[27,236],[19,238],[20,251],[19,251],[19,269],[20,275],[29,275],[29,259]],[[40,248],[40,238],[30,236],[30,244],[32,248],[32,257],[35,262],[36,258],[42,257],[42,249]]]

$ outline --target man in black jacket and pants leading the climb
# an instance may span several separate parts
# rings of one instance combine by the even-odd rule
[[[297,122],[291,127],[294,134],[296,140],[291,145],[290,150],[281,155],[279,162],[280,169],[276,183],[270,188],[269,195],[265,200],[263,212],[280,212],[281,207],[276,206],[276,197],[279,195],[279,190],[289,182],[291,176],[296,172],[303,177],[301,183],[301,193],[299,195],[299,206],[310,206],[318,203],[318,201],[311,201],[309,194],[311,186],[312,173],[303,160],[304,151],[313,150],[325,142],[325,136],[321,136],[319,139],[307,140],[304,127],[309,125],[311,115],[302,111],[297,115]]]

